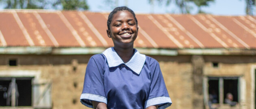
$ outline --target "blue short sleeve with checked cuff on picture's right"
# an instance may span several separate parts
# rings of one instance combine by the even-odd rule
[[[158,109],[165,109],[171,106],[171,99],[165,86],[165,81],[159,66],[156,61],[151,66],[151,84],[150,93],[147,101],[145,101],[145,108],[158,105]]]

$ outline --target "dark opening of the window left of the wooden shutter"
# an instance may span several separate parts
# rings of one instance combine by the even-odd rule
[[[32,78],[0,78],[0,106],[31,106]]]

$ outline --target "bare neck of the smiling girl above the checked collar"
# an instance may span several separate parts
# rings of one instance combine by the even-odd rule
[[[127,63],[133,56],[133,46],[129,48],[121,48],[114,46],[115,51],[119,55],[119,57],[124,61],[124,63]]]

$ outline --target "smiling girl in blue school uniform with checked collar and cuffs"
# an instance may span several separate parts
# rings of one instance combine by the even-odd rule
[[[81,103],[94,109],[165,109],[171,105],[159,63],[140,54],[135,13],[126,6],[108,16],[108,37],[114,47],[88,62]]]

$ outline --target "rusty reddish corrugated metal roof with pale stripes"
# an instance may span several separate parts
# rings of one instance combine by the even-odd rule
[[[0,10],[0,46],[111,47],[108,13]],[[256,48],[256,17],[137,14],[137,48]]]

